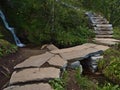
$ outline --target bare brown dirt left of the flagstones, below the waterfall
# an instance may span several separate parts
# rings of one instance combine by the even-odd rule
[[[0,58],[0,90],[9,83],[14,66],[30,56],[39,55],[46,50],[40,48],[19,48],[18,52]]]

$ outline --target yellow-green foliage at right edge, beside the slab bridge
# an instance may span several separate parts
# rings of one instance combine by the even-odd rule
[[[119,44],[116,45],[119,47]],[[120,81],[120,51],[112,48],[104,53],[104,59],[98,64],[98,68],[103,74],[115,83]]]

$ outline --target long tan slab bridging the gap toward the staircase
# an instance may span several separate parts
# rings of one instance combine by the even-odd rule
[[[91,48],[85,48],[83,50],[77,50],[77,51],[72,51],[72,52],[67,52],[67,53],[60,53],[60,55],[68,61],[72,60],[83,60],[85,58],[88,58],[94,53],[99,53],[100,51],[105,51],[109,47],[107,46],[102,46],[98,45],[96,47],[91,47]]]

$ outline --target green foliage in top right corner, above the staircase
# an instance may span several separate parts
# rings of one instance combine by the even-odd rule
[[[114,26],[120,26],[119,0],[83,0],[83,7],[102,13]]]

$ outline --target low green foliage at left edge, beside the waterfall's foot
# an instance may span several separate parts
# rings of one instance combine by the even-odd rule
[[[15,45],[12,45],[9,42],[0,39],[0,57],[8,55],[10,53],[15,53],[16,51],[17,47]]]

